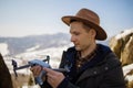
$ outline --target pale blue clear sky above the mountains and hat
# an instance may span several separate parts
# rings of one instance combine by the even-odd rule
[[[88,8],[109,36],[133,29],[133,0],[0,0],[0,36],[69,33],[61,18]]]

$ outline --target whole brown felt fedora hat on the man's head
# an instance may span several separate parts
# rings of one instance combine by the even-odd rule
[[[81,21],[93,28],[96,31],[96,40],[103,41],[108,37],[105,31],[100,26],[100,18],[95,12],[89,9],[81,9],[75,15],[62,16],[62,21],[68,25],[70,25],[72,20]]]

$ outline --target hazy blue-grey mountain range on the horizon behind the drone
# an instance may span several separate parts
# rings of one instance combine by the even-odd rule
[[[59,47],[70,43],[70,36],[65,33],[31,35],[24,37],[0,37],[0,43],[6,43],[10,54],[20,54],[28,48],[35,50]]]

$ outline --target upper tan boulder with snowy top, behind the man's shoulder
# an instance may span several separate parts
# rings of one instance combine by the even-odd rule
[[[133,29],[125,30],[113,36],[109,43],[111,50],[119,56],[122,65],[133,63]]]

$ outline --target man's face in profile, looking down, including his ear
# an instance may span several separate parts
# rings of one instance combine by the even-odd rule
[[[73,42],[76,51],[88,50],[94,41],[91,30],[86,30],[83,28],[82,22],[72,22],[70,25],[71,42]]]

